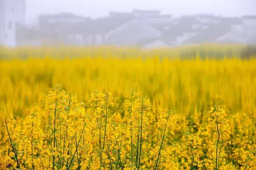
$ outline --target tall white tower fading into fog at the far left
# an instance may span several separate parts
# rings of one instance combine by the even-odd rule
[[[25,0],[0,0],[0,45],[15,47],[16,26],[25,20]]]

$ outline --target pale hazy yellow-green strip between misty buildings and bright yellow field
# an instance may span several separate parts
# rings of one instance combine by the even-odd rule
[[[131,47],[1,47],[0,59],[27,58],[77,58],[77,57],[163,57],[193,59],[193,58],[243,58],[256,57],[256,45],[221,46],[199,45],[194,47],[177,47],[155,50],[143,50]]]

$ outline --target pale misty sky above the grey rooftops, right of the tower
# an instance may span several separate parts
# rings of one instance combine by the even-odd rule
[[[129,12],[133,8],[161,10],[163,14],[207,13],[223,16],[256,14],[256,0],[27,0],[27,21],[40,13],[72,12],[83,16],[106,16],[108,11]]]

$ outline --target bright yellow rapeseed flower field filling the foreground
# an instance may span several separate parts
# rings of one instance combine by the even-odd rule
[[[2,59],[0,169],[256,169],[255,59],[122,52]]]

